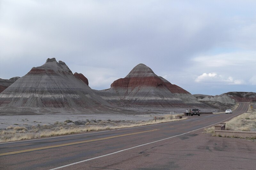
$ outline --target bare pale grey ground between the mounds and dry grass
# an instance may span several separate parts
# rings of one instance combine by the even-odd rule
[[[126,108],[124,108],[126,109]],[[161,117],[170,112],[173,115],[186,112],[186,108],[172,109],[129,109],[130,114],[124,113],[83,113],[77,110],[49,110],[49,109],[31,109],[31,108],[2,108],[0,110],[0,130],[6,129],[8,126],[42,126],[53,125],[55,122],[64,122],[66,120],[86,121],[88,120],[124,120],[124,121],[148,121],[154,119],[155,116]],[[214,109],[201,109],[201,112],[214,112]],[[74,114],[72,114],[74,113]],[[141,114],[138,114],[141,113]]]

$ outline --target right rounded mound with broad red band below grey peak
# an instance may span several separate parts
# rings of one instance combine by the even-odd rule
[[[95,92],[108,102],[128,107],[173,108],[203,105],[188,91],[157,76],[144,64],[138,64],[126,77],[114,81],[110,89]]]

